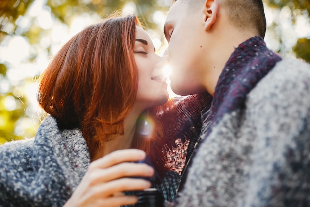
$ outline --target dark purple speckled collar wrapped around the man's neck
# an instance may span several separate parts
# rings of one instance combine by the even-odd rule
[[[261,37],[241,43],[219,76],[209,114],[209,131],[224,114],[243,107],[248,93],[280,60],[281,57],[269,50]]]

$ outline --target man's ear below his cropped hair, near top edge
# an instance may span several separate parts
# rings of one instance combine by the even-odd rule
[[[218,10],[217,0],[206,0],[203,8],[203,21],[204,29],[207,31],[211,28],[216,20],[216,14]]]

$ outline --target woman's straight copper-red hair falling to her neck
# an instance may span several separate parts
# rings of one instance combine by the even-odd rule
[[[39,105],[57,119],[60,129],[81,129],[91,160],[105,141],[124,133],[124,118],[133,108],[138,88],[136,25],[140,22],[132,14],[85,28],[60,49],[41,75]],[[156,123],[152,138],[137,141],[135,136],[134,148],[145,150],[162,174],[167,149],[155,118],[157,109],[148,112]]]

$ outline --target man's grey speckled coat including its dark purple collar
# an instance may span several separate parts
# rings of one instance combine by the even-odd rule
[[[310,207],[310,65],[240,44],[184,171],[166,206]]]

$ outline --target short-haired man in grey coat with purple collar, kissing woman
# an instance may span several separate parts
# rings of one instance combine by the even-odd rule
[[[171,88],[207,91],[178,207],[310,206],[310,65],[263,37],[261,0],[177,0],[164,33]]]

